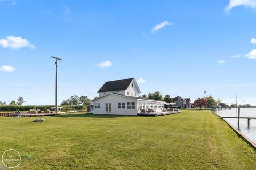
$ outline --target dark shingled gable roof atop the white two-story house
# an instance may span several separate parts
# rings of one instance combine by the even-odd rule
[[[100,88],[98,92],[108,92],[108,91],[122,91],[126,90],[131,84],[134,78],[123,79],[123,80],[115,80],[115,81],[107,81]]]

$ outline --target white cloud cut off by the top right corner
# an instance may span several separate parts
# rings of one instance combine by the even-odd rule
[[[251,7],[254,9],[256,8],[256,0],[230,0],[228,6],[225,8],[225,11],[228,12],[237,6]]]

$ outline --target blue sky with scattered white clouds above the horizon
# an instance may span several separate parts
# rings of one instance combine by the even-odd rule
[[[256,1],[0,0],[0,101],[54,104],[51,55],[59,104],[135,77],[142,94],[256,105]]]

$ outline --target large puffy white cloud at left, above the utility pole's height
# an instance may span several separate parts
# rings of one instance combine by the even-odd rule
[[[34,49],[34,44],[31,44],[27,39],[22,37],[7,36],[6,39],[0,39],[0,45],[4,48],[20,49],[22,47],[30,47]]]

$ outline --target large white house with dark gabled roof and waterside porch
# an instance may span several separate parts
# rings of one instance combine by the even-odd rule
[[[99,97],[91,101],[91,113],[137,115],[138,109],[163,108],[165,102],[140,97],[140,88],[134,78],[108,81],[98,91]]]

